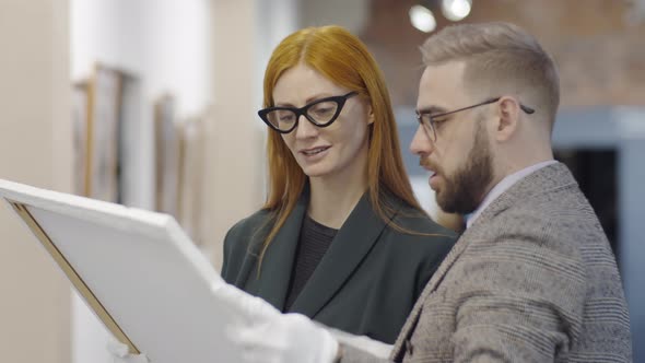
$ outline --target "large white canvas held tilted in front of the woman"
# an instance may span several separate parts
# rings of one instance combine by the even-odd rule
[[[238,317],[211,293],[221,277],[172,216],[1,179],[0,197],[27,208],[152,362],[238,361],[224,336]]]

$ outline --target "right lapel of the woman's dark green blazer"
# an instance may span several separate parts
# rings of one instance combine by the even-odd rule
[[[291,312],[315,317],[352,276],[385,226],[365,192],[294,301]]]

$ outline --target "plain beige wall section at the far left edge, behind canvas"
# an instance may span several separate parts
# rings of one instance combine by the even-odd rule
[[[67,0],[0,1],[0,178],[70,191]],[[0,202],[0,361],[68,363],[69,283]]]

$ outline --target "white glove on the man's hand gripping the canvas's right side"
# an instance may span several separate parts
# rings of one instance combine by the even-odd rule
[[[226,336],[242,352],[241,363],[331,363],[338,341],[301,314],[281,314],[263,300],[239,289],[213,283],[213,293],[242,318]]]

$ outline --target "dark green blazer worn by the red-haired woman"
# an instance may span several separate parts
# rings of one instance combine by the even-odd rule
[[[368,194],[359,201],[291,306],[329,327],[394,343],[417,297],[453,247],[456,235],[398,199],[392,220],[423,236],[386,225]],[[308,204],[304,192],[270,244],[258,277],[258,255],[272,214],[258,211],[239,221],[224,239],[222,277],[284,311],[296,245]]]

